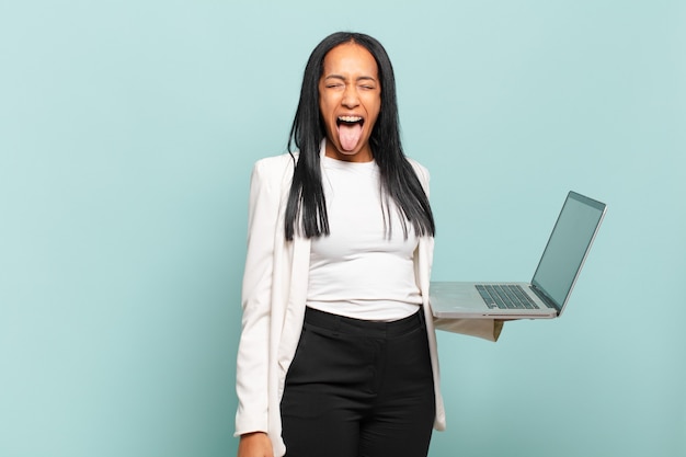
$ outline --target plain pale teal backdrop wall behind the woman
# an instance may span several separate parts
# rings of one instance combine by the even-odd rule
[[[526,281],[567,191],[608,204],[561,319],[439,335],[431,456],[685,456],[685,24],[666,0],[2,2],[0,455],[235,455],[250,170],[310,50],[355,30],[432,171],[434,279]]]

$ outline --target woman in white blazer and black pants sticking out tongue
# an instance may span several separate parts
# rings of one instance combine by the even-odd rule
[[[432,317],[428,173],[376,39],[315,48],[294,145],[251,179],[238,455],[426,456],[445,427],[434,328],[494,341],[502,323]]]

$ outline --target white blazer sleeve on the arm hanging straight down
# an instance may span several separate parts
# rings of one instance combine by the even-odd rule
[[[236,366],[236,436],[267,431],[271,289],[281,199],[277,183],[270,179],[265,162],[258,161],[250,180],[243,313]]]

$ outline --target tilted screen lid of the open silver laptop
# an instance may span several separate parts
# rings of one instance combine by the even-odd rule
[[[531,284],[564,306],[595,238],[605,204],[570,192],[538,263]]]

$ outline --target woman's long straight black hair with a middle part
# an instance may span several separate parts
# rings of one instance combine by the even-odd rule
[[[388,216],[389,199],[392,199],[400,215],[404,216],[400,220],[405,237],[405,219],[418,235],[433,236],[436,228],[428,198],[400,142],[396,78],[390,58],[375,38],[361,33],[338,32],[317,45],[305,67],[298,110],[288,139],[288,150],[296,165],[286,206],[286,239],[293,240],[296,232],[307,238],[330,232],[319,157],[321,141],[327,135],[319,111],[319,80],[327,54],[345,43],[366,48],[374,56],[379,72],[381,107],[369,137],[369,146],[379,167],[385,214]],[[297,159],[293,155],[294,145],[299,150]],[[389,221],[387,228],[390,235],[390,218],[386,220]]]

